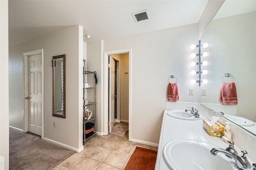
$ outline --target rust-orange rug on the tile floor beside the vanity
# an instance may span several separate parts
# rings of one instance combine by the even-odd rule
[[[154,170],[157,151],[136,147],[124,170]]]

